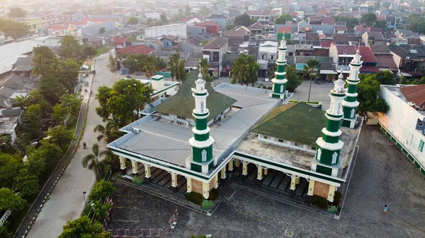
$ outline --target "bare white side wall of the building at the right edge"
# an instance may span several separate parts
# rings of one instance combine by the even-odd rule
[[[425,141],[425,136],[422,135],[421,131],[416,130],[418,119],[424,120],[424,115],[407,105],[407,102],[404,102],[382,85],[380,86],[379,97],[390,106],[387,113],[379,114],[380,124],[395,135],[399,142],[409,148],[416,157],[425,162],[425,146],[422,151],[419,150],[419,143],[421,140]]]

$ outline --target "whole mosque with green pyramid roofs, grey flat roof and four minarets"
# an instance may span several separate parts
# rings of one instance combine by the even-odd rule
[[[198,70],[191,71],[175,95],[153,102],[145,117],[120,129],[125,135],[108,144],[120,156],[123,176],[139,174],[145,182],[208,199],[220,179],[234,174],[294,196],[334,201],[361,129],[356,114],[361,55],[351,61],[346,82],[342,74],[334,82],[330,108],[323,112],[290,103],[286,49],[282,40],[272,90],[228,83],[212,88]]]

